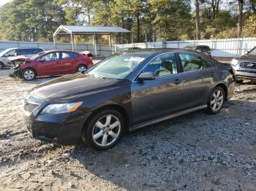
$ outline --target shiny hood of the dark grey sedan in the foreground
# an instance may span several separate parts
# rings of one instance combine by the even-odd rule
[[[120,87],[124,81],[127,79],[103,79],[77,73],[44,82],[29,94],[49,103],[64,103],[72,98]]]

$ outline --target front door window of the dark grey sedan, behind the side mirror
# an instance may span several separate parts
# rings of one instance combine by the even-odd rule
[[[166,53],[157,56],[148,63],[143,72],[153,72],[156,77],[167,76],[178,73],[178,63],[174,53]]]

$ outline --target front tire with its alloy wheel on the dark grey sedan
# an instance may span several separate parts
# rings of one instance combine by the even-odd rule
[[[123,132],[124,117],[122,114],[112,109],[103,110],[89,121],[83,142],[93,149],[109,149],[119,141]]]

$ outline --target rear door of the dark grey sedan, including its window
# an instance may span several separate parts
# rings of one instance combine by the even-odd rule
[[[206,103],[217,77],[215,67],[192,52],[178,53],[183,71],[183,101],[186,109]]]

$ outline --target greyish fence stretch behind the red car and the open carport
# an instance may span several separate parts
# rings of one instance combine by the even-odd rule
[[[54,49],[61,49],[61,50],[72,50],[72,44],[70,43],[58,43],[56,46],[53,42],[19,42],[19,41],[0,41],[0,52],[7,48],[13,47],[41,47],[44,50],[54,50]],[[85,50],[89,50],[93,55],[94,46],[92,44],[77,44],[76,51],[82,52]],[[97,44],[97,55],[99,56],[108,56],[113,53],[114,47],[110,47],[108,45]]]

